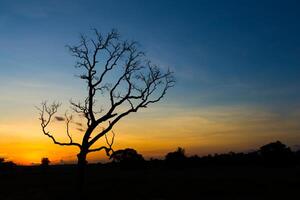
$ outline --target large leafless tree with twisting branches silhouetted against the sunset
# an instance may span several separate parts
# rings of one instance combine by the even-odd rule
[[[87,85],[85,99],[81,102],[70,100],[72,114],[66,113],[64,117],[55,116],[60,103],[43,102],[38,108],[43,133],[57,145],[78,147],[78,165],[82,168],[87,163],[88,153],[105,150],[110,155],[114,134],[112,141],[106,135],[121,119],[160,101],[174,85],[172,72],[163,72],[153,65],[144,52],[138,50],[136,42],[123,41],[116,30],[102,35],[93,29],[93,33],[93,37],[81,35],[77,45],[67,46],[76,58],[75,67],[81,73],[78,77]],[[104,99],[102,107],[97,98]],[[76,123],[74,115],[86,121],[79,142],[75,142],[70,133],[70,123]],[[59,142],[47,129],[53,119],[66,123],[69,141]],[[102,137],[107,144],[95,146]]]

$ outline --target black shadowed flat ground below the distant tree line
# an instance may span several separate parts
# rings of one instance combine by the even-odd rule
[[[75,199],[74,166],[0,171],[0,199]],[[299,199],[300,167],[223,166],[120,169],[89,166],[86,199]]]

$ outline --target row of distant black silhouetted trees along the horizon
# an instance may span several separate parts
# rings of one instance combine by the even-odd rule
[[[41,167],[49,167],[50,160],[46,157],[41,159]],[[138,169],[145,167],[201,167],[201,166],[240,166],[240,165],[263,165],[269,167],[285,167],[300,164],[300,150],[292,151],[280,141],[263,145],[256,151],[248,153],[223,153],[206,156],[187,156],[185,150],[178,147],[169,152],[164,159],[145,160],[143,155],[132,148],[114,151],[110,156],[109,166],[120,166],[125,169]],[[102,164],[101,164],[102,165]],[[0,158],[0,168],[12,168],[16,164]],[[103,166],[103,165],[102,165]]]

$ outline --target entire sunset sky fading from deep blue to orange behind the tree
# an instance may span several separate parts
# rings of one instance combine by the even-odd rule
[[[72,162],[40,130],[35,106],[86,94],[67,44],[91,28],[138,41],[175,73],[163,101],[114,129],[115,148],[163,157],[300,144],[300,2],[296,0],[0,0],[0,156]],[[55,133],[64,139],[61,132]],[[78,136],[79,137],[79,136]],[[101,141],[100,141],[101,142]],[[89,157],[105,159],[103,153]]]

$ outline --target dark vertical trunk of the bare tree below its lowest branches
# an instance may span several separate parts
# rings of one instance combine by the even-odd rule
[[[85,170],[86,170],[86,155],[87,153],[85,151],[80,151],[80,153],[77,155],[77,166],[78,166],[78,192],[79,199],[86,199],[85,196]]]

